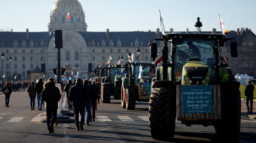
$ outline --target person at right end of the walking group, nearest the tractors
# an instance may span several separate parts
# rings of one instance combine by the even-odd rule
[[[96,105],[96,100],[98,99],[98,104],[99,104],[99,93],[96,90],[96,87],[98,88],[98,86],[96,85],[96,87],[94,87],[94,85],[92,85],[92,81],[88,81],[88,84],[92,86],[92,90],[93,90],[93,97],[92,97],[92,109],[93,109],[93,116],[92,114],[90,115],[90,121],[95,121],[95,105]],[[98,89],[99,90],[99,89]]]

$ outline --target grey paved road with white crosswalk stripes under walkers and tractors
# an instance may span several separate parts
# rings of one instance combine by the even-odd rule
[[[155,140],[148,123],[148,103],[137,102],[134,111],[127,111],[115,99],[111,104],[100,103],[96,121],[83,131],[76,131],[74,123],[58,124],[54,133],[48,134],[46,124],[36,122],[40,118],[37,115],[45,109],[31,111],[27,92],[13,93],[9,108],[4,107],[4,99],[0,97],[0,142],[226,142],[212,126],[186,127],[178,121],[174,139]],[[255,123],[256,120],[241,118],[239,142],[256,142]]]

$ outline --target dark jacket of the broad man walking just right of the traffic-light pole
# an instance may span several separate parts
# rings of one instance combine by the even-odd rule
[[[84,102],[88,100],[88,97],[87,89],[81,83],[76,83],[70,88],[69,99],[73,104],[84,105]]]

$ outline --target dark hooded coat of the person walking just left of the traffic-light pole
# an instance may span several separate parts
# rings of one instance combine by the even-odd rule
[[[44,90],[41,93],[41,99],[46,102],[46,109],[55,110],[58,108],[58,102],[61,98],[59,88],[55,87],[55,82],[47,81],[44,84]]]

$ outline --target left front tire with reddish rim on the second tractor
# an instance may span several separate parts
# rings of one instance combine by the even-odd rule
[[[125,102],[126,102],[126,109],[127,110],[134,110],[136,105],[136,89],[135,87],[127,87],[126,88],[126,96],[125,96]]]

